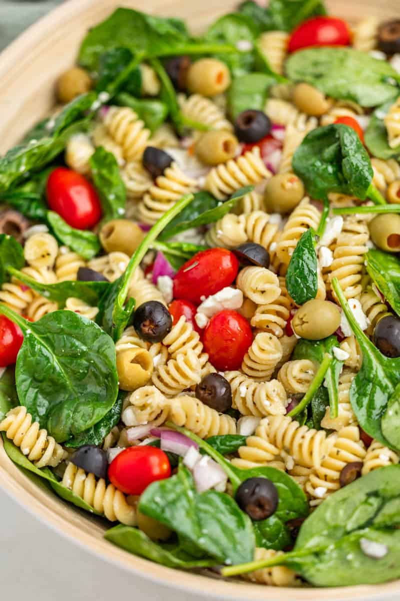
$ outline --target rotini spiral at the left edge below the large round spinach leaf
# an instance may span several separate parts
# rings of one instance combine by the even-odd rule
[[[55,468],[67,456],[52,436],[47,435],[47,430],[40,429],[37,421],[32,422],[32,415],[26,407],[14,407],[8,411],[0,422],[0,432],[5,432],[16,447],[33,461],[37,468],[52,466]]]

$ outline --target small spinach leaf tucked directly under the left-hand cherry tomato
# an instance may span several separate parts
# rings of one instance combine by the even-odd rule
[[[47,211],[46,217],[55,237],[84,259],[90,260],[100,252],[100,240],[92,231],[76,230],[53,211]]]

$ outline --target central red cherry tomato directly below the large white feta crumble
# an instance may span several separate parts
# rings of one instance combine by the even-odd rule
[[[217,370],[238,370],[252,341],[249,322],[237,311],[220,311],[204,330],[204,350]]]

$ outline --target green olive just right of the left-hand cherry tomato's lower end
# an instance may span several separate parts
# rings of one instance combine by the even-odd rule
[[[100,242],[107,252],[125,252],[133,255],[145,234],[136,222],[130,219],[113,219],[100,230]]]

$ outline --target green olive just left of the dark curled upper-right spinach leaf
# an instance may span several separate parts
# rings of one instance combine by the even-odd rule
[[[294,173],[273,175],[264,189],[264,203],[269,213],[288,213],[297,207],[304,197],[302,180]]]

